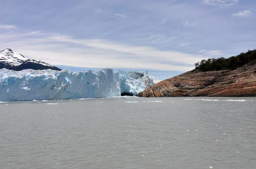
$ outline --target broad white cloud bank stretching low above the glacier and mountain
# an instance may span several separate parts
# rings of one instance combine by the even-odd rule
[[[2,34],[0,34],[2,37]],[[35,31],[6,35],[3,48],[12,48],[26,57],[88,68],[132,68],[188,71],[203,56],[151,46],[131,45],[106,39],[76,39],[69,36]]]

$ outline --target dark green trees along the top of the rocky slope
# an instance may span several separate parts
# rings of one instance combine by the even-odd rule
[[[201,60],[201,62],[195,63],[195,69],[203,71],[214,70],[234,70],[249,62],[256,62],[256,49],[246,53],[241,53],[237,56],[231,56],[229,58],[209,58],[207,60]]]

